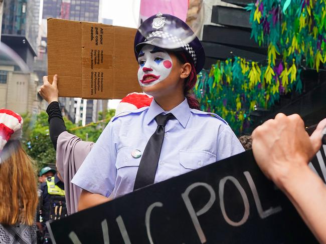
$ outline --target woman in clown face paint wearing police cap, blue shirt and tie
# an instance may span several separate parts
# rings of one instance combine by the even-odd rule
[[[79,210],[244,151],[228,124],[198,110],[190,95],[205,63],[198,38],[184,42],[194,35],[190,28],[159,13],[140,30],[134,42],[138,82],[154,99],[104,129],[72,179],[83,189]],[[176,43],[181,47],[167,49]]]

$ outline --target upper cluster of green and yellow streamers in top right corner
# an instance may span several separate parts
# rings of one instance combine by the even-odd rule
[[[326,62],[326,0],[257,0],[249,4],[251,37],[268,48],[273,68],[278,55],[283,66],[319,70]]]

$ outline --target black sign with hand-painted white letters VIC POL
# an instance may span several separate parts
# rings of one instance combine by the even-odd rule
[[[326,162],[322,149],[320,154]],[[318,160],[311,167],[322,176],[326,169]],[[50,225],[58,244],[317,243],[251,151]]]

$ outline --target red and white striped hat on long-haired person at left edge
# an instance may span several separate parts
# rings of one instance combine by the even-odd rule
[[[9,140],[21,138],[22,128],[22,116],[8,109],[0,109],[0,152]]]

